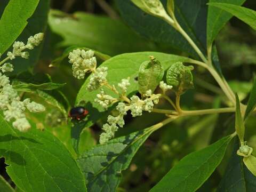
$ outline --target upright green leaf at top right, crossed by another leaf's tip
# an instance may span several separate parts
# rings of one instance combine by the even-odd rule
[[[231,3],[242,5],[246,0],[210,0],[209,5],[215,3]],[[220,30],[225,26],[232,17],[230,13],[220,10],[214,6],[209,6],[207,15],[207,47],[210,47],[217,37]]]

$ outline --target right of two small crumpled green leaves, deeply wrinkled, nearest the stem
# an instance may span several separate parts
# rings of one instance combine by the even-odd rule
[[[182,62],[174,63],[167,70],[167,84],[172,85],[172,89],[178,94],[183,94],[186,90],[193,89],[193,75],[191,73],[193,69],[193,66],[184,66]]]

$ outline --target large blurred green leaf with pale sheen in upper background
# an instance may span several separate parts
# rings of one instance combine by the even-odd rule
[[[52,11],[49,25],[63,37],[60,46],[76,45],[109,55],[132,51],[150,51],[154,45],[139,37],[121,21],[77,12],[73,17]]]

